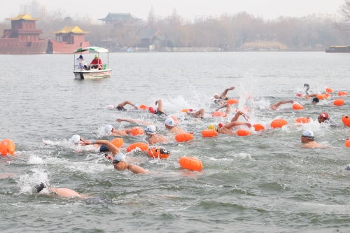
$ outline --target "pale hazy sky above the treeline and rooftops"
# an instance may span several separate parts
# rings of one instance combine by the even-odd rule
[[[2,0],[5,1],[5,0]],[[174,8],[179,15],[193,19],[201,15],[234,14],[246,11],[265,19],[279,15],[304,16],[312,13],[338,14],[344,0],[38,0],[48,11],[61,9],[66,15],[92,18],[105,17],[107,13],[131,13],[146,19],[151,6],[155,15],[171,15]],[[31,0],[10,0],[1,4],[0,20],[19,13],[20,5]]]

